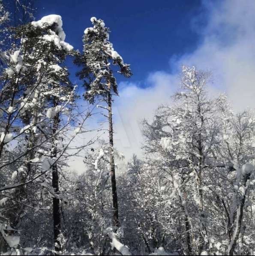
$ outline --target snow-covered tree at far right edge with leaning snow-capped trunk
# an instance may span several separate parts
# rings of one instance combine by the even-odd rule
[[[217,191],[214,194],[222,202],[228,235],[228,254],[243,254],[254,232],[249,231],[252,220],[248,217],[252,212],[254,192],[254,154],[255,154],[255,117],[253,111],[235,114],[231,111],[225,97],[219,102],[221,113],[221,143],[217,148],[217,156],[221,163],[230,165],[230,171],[221,169],[221,176],[216,180]],[[222,186],[219,181],[224,184]],[[212,181],[215,182],[215,181]]]

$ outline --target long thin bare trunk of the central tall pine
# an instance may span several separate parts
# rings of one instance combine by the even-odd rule
[[[113,155],[113,128],[112,128],[112,110],[111,110],[111,82],[108,82],[108,120],[109,120],[109,142],[110,142],[110,174],[111,174],[111,191],[113,202],[113,222],[115,227],[120,227],[119,213],[118,213],[118,197],[117,185],[115,178],[115,165]]]

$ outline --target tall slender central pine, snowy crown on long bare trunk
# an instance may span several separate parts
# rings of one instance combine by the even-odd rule
[[[92,17],[90,21],[93,27],[88,27],[84,31],[83,54],[78,54],[75,63],[82,66],[78,75],[84,81],[87,89],[84,98],[90,103],[94,103],[96,98],[101,102],[106,102],[108,110],[109,124],[109,144],[110,144],[110,174],[113,197],[113,220],[114,226],[119,227],[117,185],[115,178],[115,165],[113,153],[113,120],[112,120],[112,96],[118,95],[117,81],[111,64],[119,67],[119,73],[125,77],[132,75],[129,65],[123,63],[122,57],[114,51],[113,45],[109,42],[109,28],[105,27],[104,21]],[[104,106],[101,106],[105,108]]]

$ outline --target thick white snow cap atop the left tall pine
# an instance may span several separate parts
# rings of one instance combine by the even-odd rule
[[[39,21],[32,21],[31,24],[34,27],[40,27],[42,29],[51,27],[51,35],[45,35],[43,39],[54,42],[58,48],[72,51],[73,46],[65,42],[66,34],[62,28],[63,21],[60,15],[51,14],[42,17]]]

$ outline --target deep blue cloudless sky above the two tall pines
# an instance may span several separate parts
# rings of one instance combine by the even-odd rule
[[[35,6],[36,20],[61,15],[66,42],[80,51],[84,29],[92,26],[90,18],[102,18],[112,31],[114,49],[131,64],[134,75],[129,81],[141,86],[146,86],[148,73],[169,71],[170,57],[197,46],[194,18],[203,22],[204,15],[201,0],[36,0]]]

